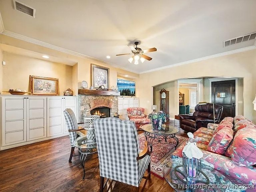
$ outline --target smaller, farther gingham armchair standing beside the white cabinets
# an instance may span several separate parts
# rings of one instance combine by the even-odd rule
[[[65,109],[64,116],[65,116],[66,124],[68,127],[68,133],[69,133],[70,143],[71,143],[71,152],[68,160],[68,162],[71,163],[73,153],[75,150],[75,146],[73,145],[73,142],[74,140],[76,140],[76,138],[78,138],[78,136],[86,136],[86,130],[84,130],[84,128],[82,127],[78,127],[76,116],[72,109],[70,108]]]

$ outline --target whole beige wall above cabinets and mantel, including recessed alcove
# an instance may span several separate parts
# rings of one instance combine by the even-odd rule
[[[139,74],[118,69],[97,60],[66,54],[64,52],[52,50],[50,48],[35,45],[4,35],[0,35],[0,44],[6,44],[13,47],[12,50],[10,48],[10,52],[4,52],[4,54],[6,55],[5,59],[8,59],[9,61],[6,61],[6,67],[4,67],[3,69],[4,79],[3,82],[0,82],[0,86],[3,87],[2,89],[0,89],[0,91],[9,90],[10,88],[20,88],[23,90],[28,90],[29,75],[35,75],[59,78],[60,95],[63,95],[63,91],[67,88],[71,88],[76,95],[78,92],[78,88],[81,87],[82,80],[85,80],[88,83],[88,88],[91,85],[91,64],[96,64],[98,66],[104,66],[106,68],[109,68],[110,87],[116,86],[116,79],[118,75],[128,75],[130,77],[130,80],[133,81],[136,81],[136,78],[139,78]],[[13,54],[17,50],[26,54],[30,51],[31,55],[33,55],[35,52],[37,54],[46,54],[50,56],[50,58],[61,58],[62,60],[67,60],[68,62],[73,62],[76,64],[74,66],[69,66],[62,63],[41,60],[30,56],[30,53],[28,53],[29,56],[25,56],[24,54]],[[0,66],[0,72],[2,69],[1,67],[2,65]],[[16,76],[18,80],[16,79]]]

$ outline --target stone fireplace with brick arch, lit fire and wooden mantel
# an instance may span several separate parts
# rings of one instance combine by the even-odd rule
[[[106,93],[111,95],[102,95]],[[94,111],[101,109],[104,109],[102,113],[105,113],[106,117],[113,117],[114,113],[118,113],[118,95],[113,95],[113,93],[116,92],[97,90],[84,90],[82,92],[78,90],[78,122],[83,122],[84,115],[91,115]]]

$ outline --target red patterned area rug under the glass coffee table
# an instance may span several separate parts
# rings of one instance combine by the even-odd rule
[[[188,140],[188,138],[177,136],[179,140],[178,146],[180,146],[183,142]],[[140,142],[140,149],[144,148],[144,142],[146,138],[144,134],[138,135],[139,142]],[[167,139],[168,144],[158,143],[156,140],[153,141],[153,149],[151,153],[151,162],[150,162],[150,172],[154,176],[164,180],[164,175],[162,172],[163,165],[170,161],[171,154],[175,150],[176,140],[173,138]],[[178,148],[177,146],[177,148]]]

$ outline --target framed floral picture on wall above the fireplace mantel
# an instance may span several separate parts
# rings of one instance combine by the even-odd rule
[[[109,68],[91,64],[91,85],[97,89],[104,86],[105,89],[109,88]]]

